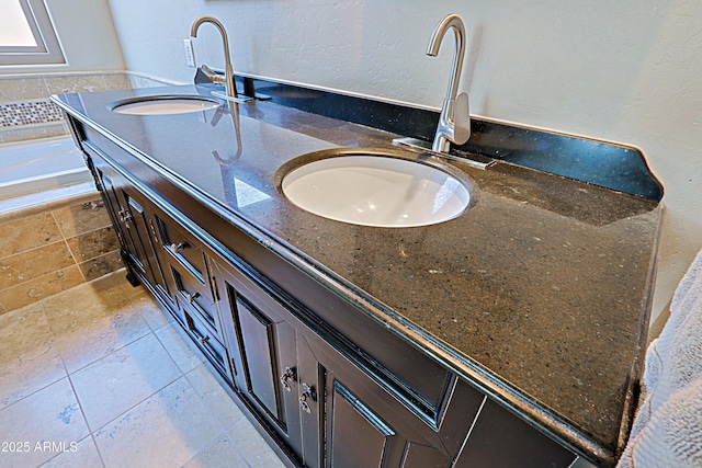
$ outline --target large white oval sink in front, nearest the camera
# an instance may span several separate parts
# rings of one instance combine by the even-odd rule
[[[298,207],[352,225],[418,227],[463,214],[471,202],[466,180],[422,162],[362,149],[299,165],[281,189]]]

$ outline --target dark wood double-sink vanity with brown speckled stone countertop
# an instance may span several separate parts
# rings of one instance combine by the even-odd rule
[[[392,142],[426,112],[257,84],[262,100],[188,113],[112,109],[149,95],[212,99],[207,88],[53,100],[110,208],[131,281],[172,315],[278,453],[310,467],[568,467],[578,455],[613,465],[646,341],[663,209],[655,180],[625,193],[601,186],[611,173],[578,181],[523,167],[557,155],[520,150],[532,130],[494,138],[499,125],[480,122],[469,145],[495,164],[430,158]],[[340,115],[328,99],[353,105]],[[376,104],[401,118],[353,123],[382,119]],[[543,138],[566,160],[641,159]],[[290,203],[283,175],[338,147],[445,167],[469,182],[471,207],[381,228]]]

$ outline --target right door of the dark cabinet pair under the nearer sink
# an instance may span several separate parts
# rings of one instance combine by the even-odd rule
[[[308,466],[448,467],[439,434],[367,369],[310,333],[298,335],[298,391]]]

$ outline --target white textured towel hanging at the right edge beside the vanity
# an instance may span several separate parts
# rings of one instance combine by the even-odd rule
[[[646,352],[632,434],[618,468],[702,467],[702,251]]]

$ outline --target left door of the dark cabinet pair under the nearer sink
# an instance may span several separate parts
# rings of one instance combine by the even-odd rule
[[[307,465],[295,391],[296,336],[290,312],[253,283],[245,265],[211,263],[237,390],[287,452]]]

